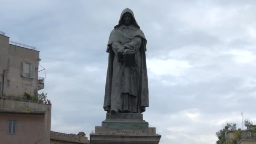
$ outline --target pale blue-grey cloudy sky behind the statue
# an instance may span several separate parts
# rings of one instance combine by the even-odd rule
[[[255,0],[0,0],[0,31],[36,47],[52,131],[87,136],[105,119],[109,33],[131,8],[147,43],[160,144],[215,144],[227,122],[256,123]],[[42,75],[42,74],[41,74]],[[245,128],[245,127],[244,127]]]

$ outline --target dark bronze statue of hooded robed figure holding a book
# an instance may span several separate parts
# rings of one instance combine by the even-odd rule
[[[125,8],[107,44],[109,61],[103,106],[105,111],[142,113],[149,106],[146,44],[147,40],[133,12]],[[134,64],[125,65],[125,56],[131,56]]]

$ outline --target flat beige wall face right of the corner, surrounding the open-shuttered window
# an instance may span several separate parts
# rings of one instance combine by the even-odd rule
[[[9,45],[8,58],[10,59],[10,70],[7,73],[7,81],[4,87],[6,95],[22,96],[24,92],[35,96],[37,89],[39,51],[22,48],[16,45]],[[34,78],[22,76],[23,61],[35,64]]]

